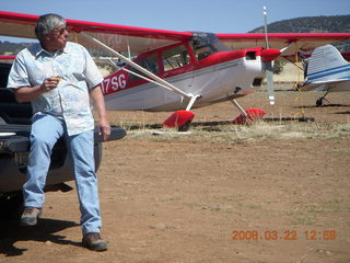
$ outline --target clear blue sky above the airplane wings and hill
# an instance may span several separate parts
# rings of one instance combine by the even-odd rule
[[[268,23],[350,14],[349,0],[2,0],[0,10],[170,31],[246,33],[264,24],[264,5]]]

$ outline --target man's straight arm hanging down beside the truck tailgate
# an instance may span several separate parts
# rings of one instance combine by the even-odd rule
[[[103,98],[101,88],[101,84],[92,88],[90,91],[90,95],[93,101],[94,108],[96,110],[98,115],[100,133],[102,134],[103,139],[107,140],[110,136],[110,126],[106,113],[105,100]]]

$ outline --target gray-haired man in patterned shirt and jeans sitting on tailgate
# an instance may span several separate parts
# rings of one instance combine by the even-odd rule
[[[66,20],[42,15],[35,26],[39,43],[23,49],[12,66],[8,88],[19,102],[32,102],[31,153],[23,185],[22,226],[34,226],[42,214],[44,186],[54,145],[65,137],[72,158],[81,210],[82,244],[107,249],[101,239],[102,220],[94,167],[92,100],[104,139],[110,135],[101,83],[103,78],[79,44],[68,42]]]

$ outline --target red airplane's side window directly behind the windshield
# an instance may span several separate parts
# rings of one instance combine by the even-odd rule
[[[162,54],[164,71],[177,69],[189,64],[189,55],[186,46],[180,45],[167,49]]]

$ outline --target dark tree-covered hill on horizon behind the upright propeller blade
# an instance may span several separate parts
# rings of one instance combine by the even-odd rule
[[[306,16],[268,24],[268,33],[350,33],[350,15]],[[249,33],[264,33],[264,26]],[[350,41],[334,44],[340,52],[350,50]]]

